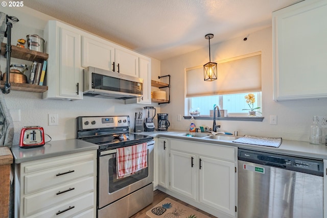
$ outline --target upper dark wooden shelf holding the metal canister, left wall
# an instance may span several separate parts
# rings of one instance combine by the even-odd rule
[[[1,55],[6,55],[6,43],[3,42],[1,43]],[[27,61],[43,62],[44,60],[49,58],[49,55],[42,52],[25,49],[24,47],[17,47],[15,45],[11,45],[10,57]]]

